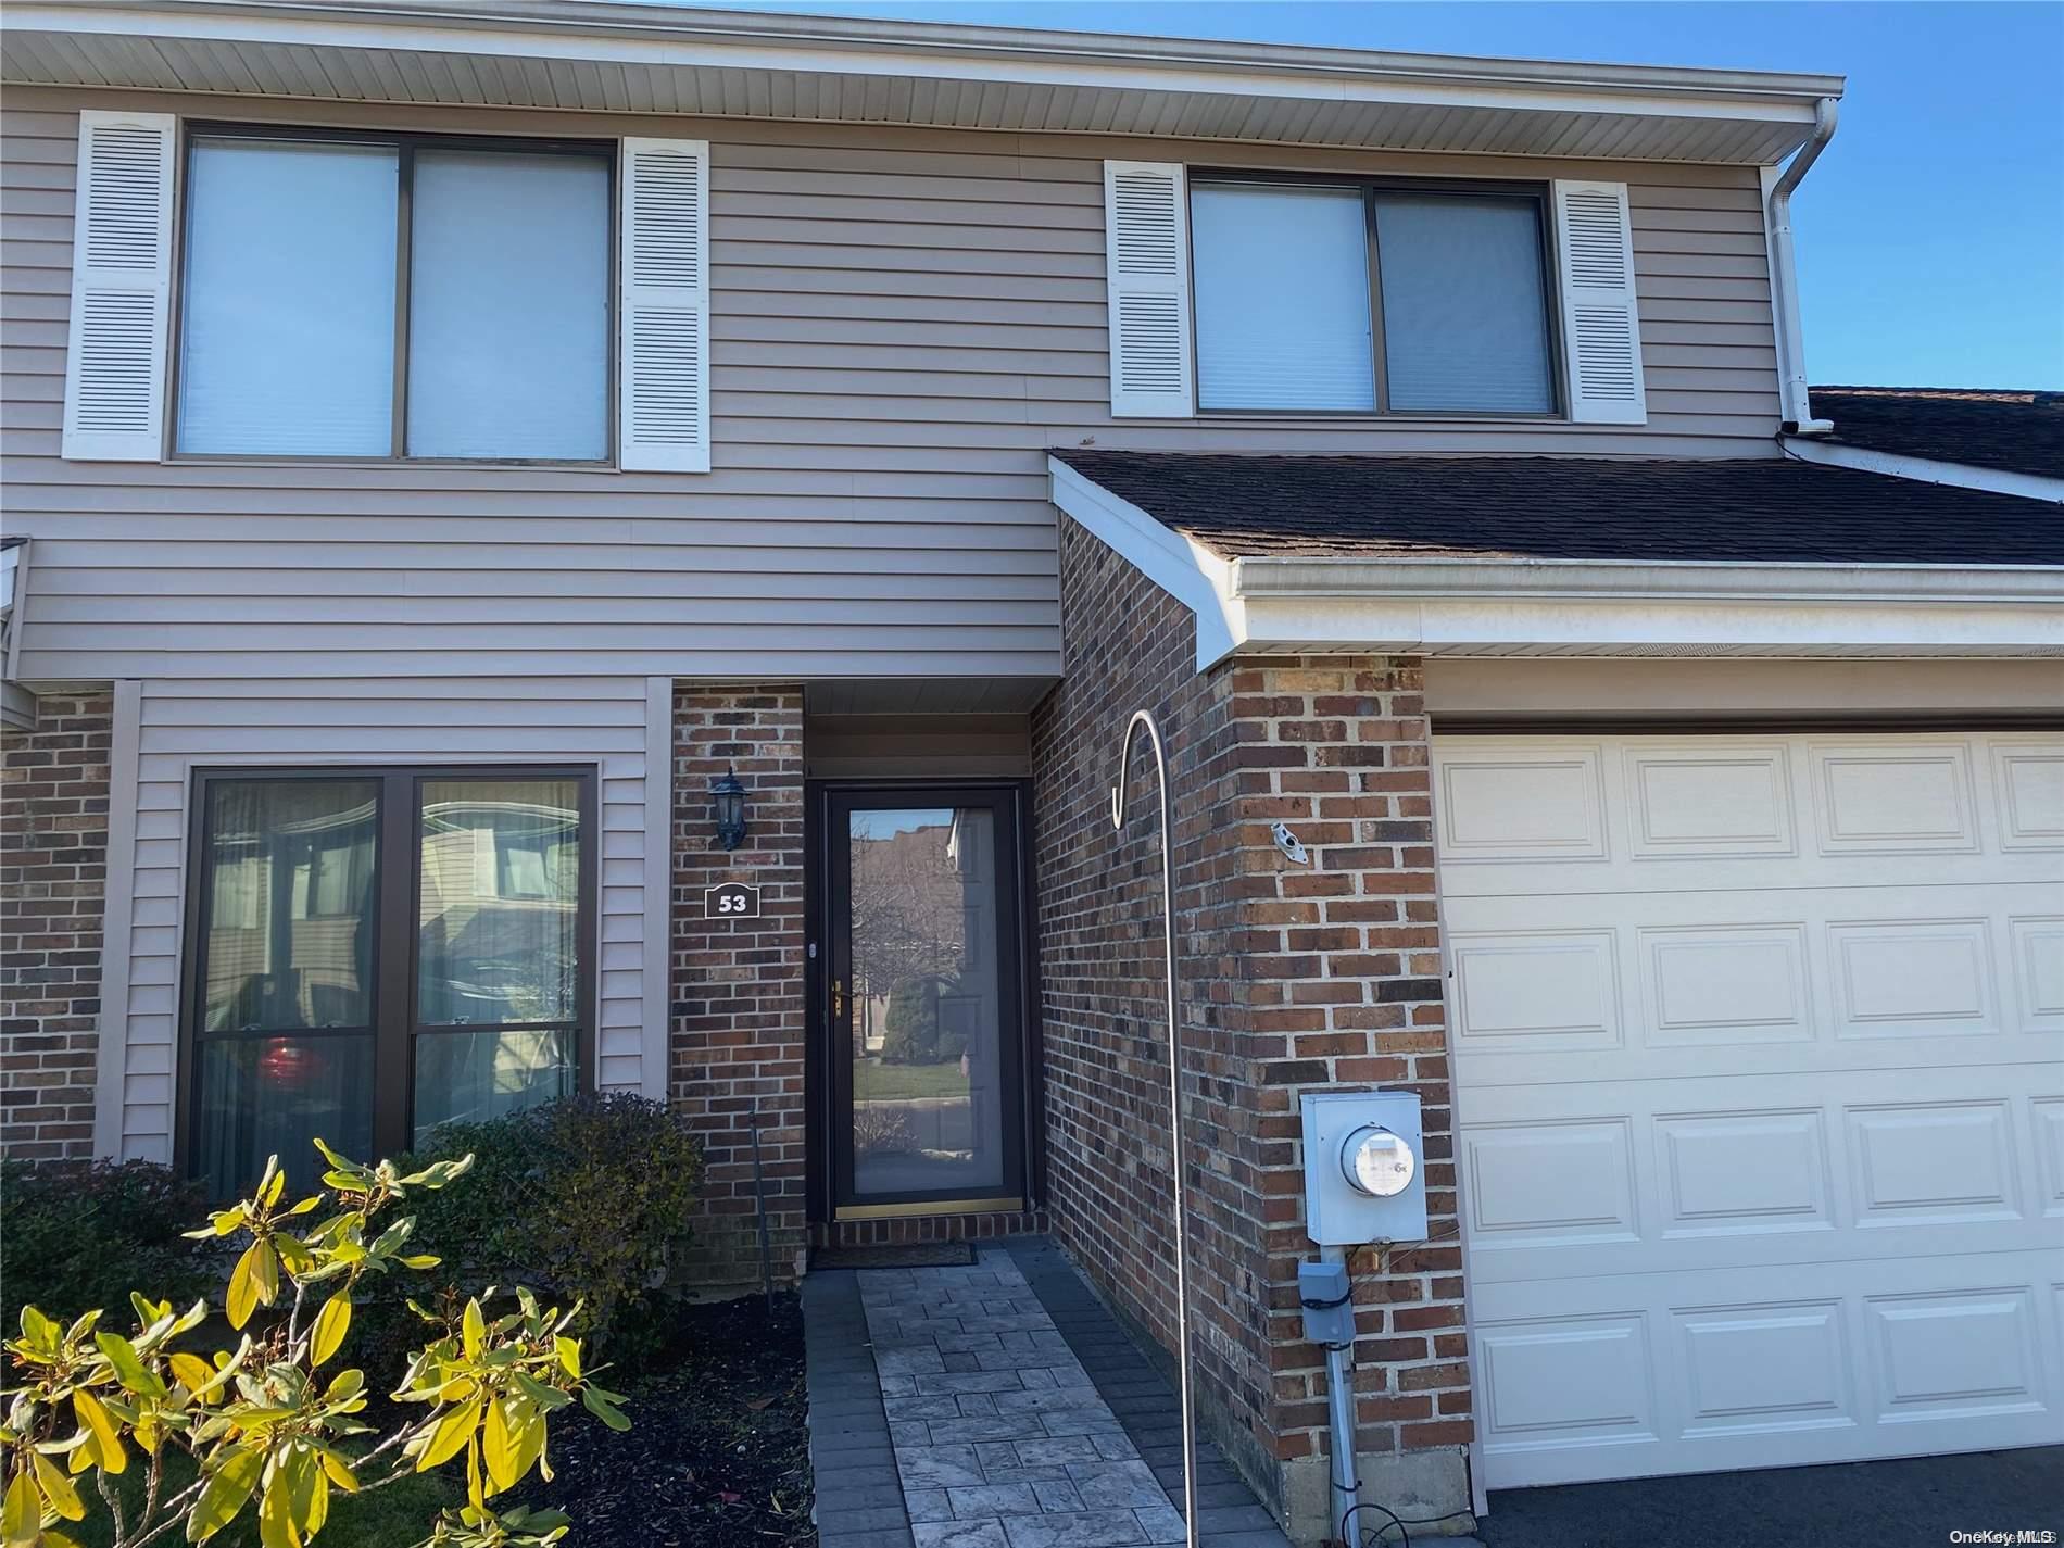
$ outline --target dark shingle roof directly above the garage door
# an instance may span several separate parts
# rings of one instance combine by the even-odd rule
[[[2064,566],[2064,506],[1777,456],[1055,456],[1228,559]]]

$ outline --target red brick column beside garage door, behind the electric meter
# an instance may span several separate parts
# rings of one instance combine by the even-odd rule
[[[1354,1255],[1356,1447],[1366,1498],[1401,1515],[1468,1505],[1472,1434],[1432,786],[1416,660],[1309,656],[1232,667],[1232,714],[1261,780],[1236,815],[1286,821],[1311,852],[1251,850],[1245,912],[1253,974],[1259,1131],[1267,1160],[1265,1278],[1273,1441],[1284,1513],[1300,1536],[1325,1513],[1325,1352],[1302,1337],[1304,1236],[1298,1094],[1414,1090],[1426,1125],[1428,1245]],[[1265,788],[1261,788],[1265,784]],[[1457,1521],[1455,1525],[1463,1525]]]

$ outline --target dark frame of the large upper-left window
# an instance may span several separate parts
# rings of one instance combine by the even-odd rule
[[[186,289],[192,262],[188,196],[194,184],[194,149],[200,140],[283,140],[310,144],[378,144],[396,151],[400,180],[394,208],[394,398],[388,450],[353,456],[349,452],[184,452],[180,450],[180,376],[186,361]],[[609,258],[605,332],[605,405],[601,456],[411,456],[409,452],[409,308],[411,258],[415,231],[415,157],[417,151],[504,151],[510,155],[563,155],[601,161],[609,178]],[[613,469],[617,460],[619,409],[619,341],[621,341],[621,165],[615,140],[541,138],[535,134],[421,134],[415,130],[347,130],[308,124],[246,124],[246,122],[182,122],[175,157],[178,190],[173,198],[173,262],[171,262],[171,328],[165,347],[165,425],[163,456],[167,462],[314,462],[351,466],[524,466],[524,469]]]

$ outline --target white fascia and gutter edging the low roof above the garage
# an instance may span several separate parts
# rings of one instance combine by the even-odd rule
[[[1049,458],[1055,504],[1236,654],[2064,656],[2064,568],[1228,559]]]

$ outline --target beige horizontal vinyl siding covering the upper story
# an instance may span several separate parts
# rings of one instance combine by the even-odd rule
[[[122,95],[188,118],[712,144],[710,475],[58,460],[76,109],[4,111],[21,671],[105,677],[1036,677],[1049,446],[1769,456],[1748,167]],[[1631,184],[1649,423],[1108,415],[1102,159]]]

